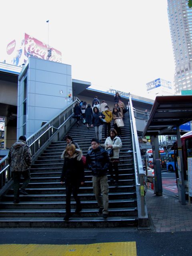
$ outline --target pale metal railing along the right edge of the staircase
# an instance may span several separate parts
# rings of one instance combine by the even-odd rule
[[[144,170],[141,160],[141,153],[136,129],[136,122],[134,117],[134,109],[131,100],[131,94],[129,94],[129,114],[130,114],[130,126],[132,134],[132,147],[133,147],[133,160],[136,182],[136,194],[137,194],[137,206],[138,206],[138,219],[139,226],[148,226],[148,214],[145,203],[144,192]]]

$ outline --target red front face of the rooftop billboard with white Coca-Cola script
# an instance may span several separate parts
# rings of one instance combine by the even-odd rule
[[[48,46],[43,42],[37,40],[36,38],[25,34],[24,55],[27,58],[34,57],[61,63],[61,52],[54,48],[51,49],[52,53],[51,56],[48,58]]]

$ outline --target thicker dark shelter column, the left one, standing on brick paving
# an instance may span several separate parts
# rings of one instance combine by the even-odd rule
[[[155,173],[155,194],[156,196],[162,196],[162,177],[161,177],[161,164],[159,155],[159,140],[158,135],[151,136],[151,144],[153,150],[153,164]]]

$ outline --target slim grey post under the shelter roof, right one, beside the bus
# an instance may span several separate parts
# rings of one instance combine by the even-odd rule
[[[180,158],[180,166],[178,166],[178,172],[180,172],[179,177],[179,185],[181,187],[181,202],[182,205],[186,205],[185,200],[185,186],[184,186],[184,172],[183,172],[183,157],[182,157],[182,147],[181,147],[181,135],[180,128],[177,126],[177,146],[178,146],[178,156]]]

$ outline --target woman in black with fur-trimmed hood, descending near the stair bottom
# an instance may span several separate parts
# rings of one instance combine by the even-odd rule
[[[61,156],[64,159],[63,170],[60,182],[66,186],[66,215],[64,220],[69,220],[71,216],[71,194],[76,201],[75,213],[82,210],[78,190],[84,184],[84,165],[82,162],[82,151],[76,149],[74,144],[66,146],[66,150]]]

